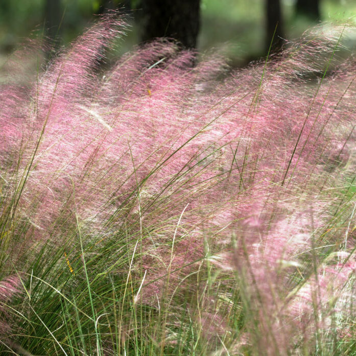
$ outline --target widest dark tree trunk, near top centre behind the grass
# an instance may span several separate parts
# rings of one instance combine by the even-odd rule
[[[200,0],[141,0],[141,40],[170,37],[185,48],[196,48]]]

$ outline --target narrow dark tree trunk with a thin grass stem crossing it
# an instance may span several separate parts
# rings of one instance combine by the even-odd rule
[[[279,0],[266,0],[267,50],[272,42],[272,51],[277,52],[283,44],[283,23]],[[277,27],[277,28],[276,28]],[[274,34],[274,35],[273,35]]]

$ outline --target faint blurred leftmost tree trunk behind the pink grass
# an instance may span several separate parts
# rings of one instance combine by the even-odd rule
[[[61,0],[46,0],[44,4],[45,35],[57,47],[60,44]]]

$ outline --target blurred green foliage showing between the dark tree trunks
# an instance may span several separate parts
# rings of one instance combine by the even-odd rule
[[[139,42],[140,0],[112,0],[116,7],[126,6],[124,11],[130,20],[130,30],[121,43],[120,52],[127,52]],[[145,1],[145,0],[141,0]],[[222,50],[232,66],[243,66],[266,54],[266,1],[268,0],[201,0],[198,50],[211,48]],[[12,52],[25,38],[45,34],[46,6],[56,0],[0,0],[0,53]],[[297,0],[280,0],[283,34],[287,39],[299,37],[316,20],[298,15]],[[60,45],[72,41],[96,14],[102,13],[103,0],[61,0],[57,13],[60,22],[55,31]],[[129,6],[128,6],[129,4]],[[130,9],[129,9],[130,8]],[[320,0],[319,20],[354,19],[356,0]],[[138,16],[137,16],[138,15]],[[53,28],[54,26],[52,26]],[[354,43],[350,43],[353,46]]]

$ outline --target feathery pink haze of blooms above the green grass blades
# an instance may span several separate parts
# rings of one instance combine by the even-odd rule
[[[347,29],[314,29],[266,64],[236,71],[219,55],[194,66],[195,53],[157,40],[98,75],[124,29],[121,19],[104,18],[30,86],[0,86],[2,194],[17,194],[16,218],[31,223],[26,244],[60,243],[77,219],[98,241],[125,222],[143,241],[146,282],[179,269],[174,289],[195,265],[182,267],[207,256],[208,241],[206,258],[247,281],[262,336],[247,328],[246,342],[273,355],[275,345],[287,350],[327,327],[336,310],[328,301],[343,295],[355,263],[345,254],[351,232],[347,240],[345,229],[325,232],[338,204],[331,188],[354,170],[355,63],[337,66],[333,55]],[[327,65],[333,72],[323,77]],[[307,265],[303,252],[322,246],[320,236],[336,257],[318,260],[319,278],[294,289],[288,276]],[[0,302],[18,288],[8,278]],[[145,302],[155,302],[162,283],[144,286]],[[315,305],[324,311],[318,321]],[[207,307],[207,329],[209,315],[224,323]]]

